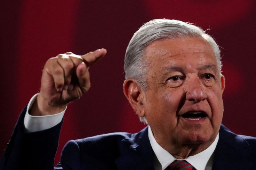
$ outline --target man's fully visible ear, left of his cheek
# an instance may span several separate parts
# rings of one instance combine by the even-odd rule
[[[124,81],[124,95],[130,102],[133,110],[140,117],[145,116],[144,98],[141,86],[133,78]]]

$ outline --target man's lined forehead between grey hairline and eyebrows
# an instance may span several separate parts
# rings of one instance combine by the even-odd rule
[[[194,68],[202,64],[216,64],[217,66],[216,57],[210,44],[199,37],[155,41],[145,49],[144,56],[151,66],[161,64],[164,67],[170,63]]]

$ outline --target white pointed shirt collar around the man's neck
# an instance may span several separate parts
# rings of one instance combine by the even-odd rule
[[[151,147],[155,152],[156,157],[162,166],[162,169],[165,169],[174,160],[177,160],[174,156],[172,156],[172,154],[170,154],[168,151],[166,151],[156,142],[156,139],[154,138],[154,135],[152,133],[150,126],[148,126],[148,138],[149,138]],[[216,148],[218,140],[219,140],[219,134],[215,138],[214,142],[203,152],[200,152],[193,156],[189,156],[184,160],[186,160],[188,163],[194,166],[197,170],[204,170],[208,160],[210,159],[210,157],[212,156]]]

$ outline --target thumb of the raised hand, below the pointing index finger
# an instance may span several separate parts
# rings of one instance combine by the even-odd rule
[[[76,76],[78,78],[78,83],[83,93],[87,92],[91,86],[90,74],[86,64],[80,63],[76,68]]]

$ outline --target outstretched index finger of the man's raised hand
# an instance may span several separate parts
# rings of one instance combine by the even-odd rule
[[[101,57],[106,55],[107,50],[105,48],[97,49],[93,52],[82,55],[81,57],[84,59],[84,63],[87,67],[92,66],[96,63]]]

